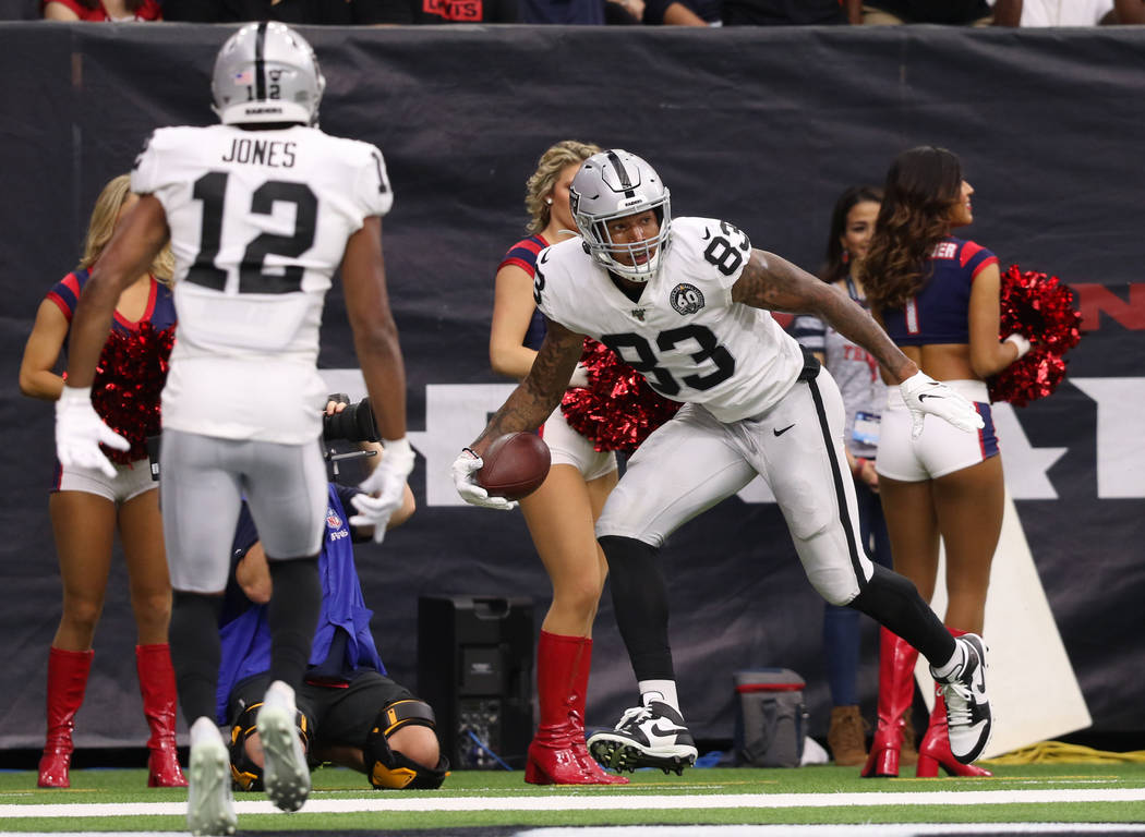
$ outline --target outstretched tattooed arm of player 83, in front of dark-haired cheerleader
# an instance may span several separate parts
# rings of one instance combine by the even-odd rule
[[[751,259],[732,287],[732,299],[753,308],[815,314],[843,337],[867,349],[895,382],[918,371],[915,362],[902,354],[862,306],[774,253],[751,251]]]

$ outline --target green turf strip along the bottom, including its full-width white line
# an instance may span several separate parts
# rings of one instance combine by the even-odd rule
[[[373,791],[344,769],[315,773],[297,814],[236,795],[239,828],[416,831],[481,826],[652,823],[1145,822],[1145,765],[997,766],[990,779],[863,780],[853,767],[641,771],[627,787],[537,788],[521,772],[463,771],[437,791]],[[0,831],[141,831],[183,827],[187,793],[148,789],[147,773],[73,771],[70,790],[32,772],[0,773]]]

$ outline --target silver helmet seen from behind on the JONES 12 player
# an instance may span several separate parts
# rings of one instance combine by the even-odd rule
[[[248,23],[215,58],[211,93],[224,125],[318,120],[326,79],[310,45],[282,23]]]

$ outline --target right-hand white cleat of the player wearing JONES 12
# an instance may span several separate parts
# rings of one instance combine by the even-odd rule
[[[275,680],[262,698],[258,728],[262,742],[262,783],[281,811],[298,811],[310,796],[310,768],[299,739],[294,689]]]

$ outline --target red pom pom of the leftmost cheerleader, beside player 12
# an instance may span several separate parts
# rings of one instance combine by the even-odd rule
[[[112,330],[108,335],[95,368],[92,403],[104,424],[132,444],[129,450],[101,445],[111,461],[126,465],[147,457],[147,437],[161,428],[159,395],[174,342],[175,326],[156,331],[150,323],[129,334]]]

